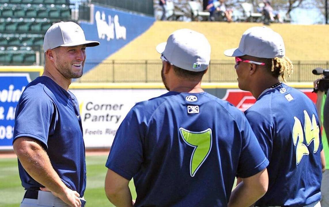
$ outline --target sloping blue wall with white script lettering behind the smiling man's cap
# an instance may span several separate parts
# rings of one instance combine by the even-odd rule
[[[94,6],[92,23],[80,22],[86,39],[100,42],[97,47],[87,48],[84,72],[101,63],[124,45],[149,29],[154,17]],[[129,54],[127,54],[129,59]]]

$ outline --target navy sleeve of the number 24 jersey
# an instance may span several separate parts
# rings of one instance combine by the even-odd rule
[[[245,111],[245,116],[247,117],[266,158],[270,160],[273,149],[273,136],[271,131],[271,128],[273,127],[271,127],[270,121],[266,118],[262,118],[264,117],[262,114],[252,110]]]

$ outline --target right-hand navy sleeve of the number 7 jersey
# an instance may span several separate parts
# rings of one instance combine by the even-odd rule
[[[269,164],[259,145],[250,124],[244,117],[241,129],[241,153],[237,175],[241,178],[250,177],[264,170]]]

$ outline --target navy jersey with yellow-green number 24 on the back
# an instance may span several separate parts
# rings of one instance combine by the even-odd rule
[[[320,200],[322,142],[314,103],[285,84],[264,91],[245,115],[270,161],[268,191],[256,206]]]

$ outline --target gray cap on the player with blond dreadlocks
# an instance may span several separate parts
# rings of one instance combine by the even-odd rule
[[[282,58],[286,49],[281,35],[268,27],[251,27],[240,40],[238,48],[224,51],[224,55],[240,57],[249,55],[257,58]]]

